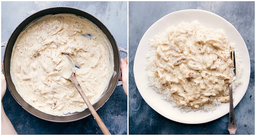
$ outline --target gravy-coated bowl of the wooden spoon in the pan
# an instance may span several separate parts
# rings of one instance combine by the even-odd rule
[[[62,53],[62,68],[61,76],[65,79],[68,79],[73,73],[75,73],[75,64],[73,60],[68,56],[68,54]]]

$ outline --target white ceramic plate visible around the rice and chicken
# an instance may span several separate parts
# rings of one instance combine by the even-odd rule
[[[229,41],[236,43],[236,49],[240,52],[243,60],[241,64],[244,67],[242,71],[243,83],[233,90],[235,91],[233,93],[234,106],[243,98],[250,79],[250,58],[247,47],[236,28],[224,18],[204,10],[181,10],[172,12],[156,21],[145,32],[136,51],[133,66],[135,83],[142,98],[156,112],[173,121],[187,124],[199,124],[218,119],[229,112],[229,103],[218,105],[217,109],[212,112],[180,112],[178,108],[172,107],[170,102],[161,99],[161,94],[148,87],[149,80],[145,67],[148,62],[146,54],[149,52],[149,39],[153,39],[155,35],[163,33],[171,25],[176,26],[182,21],[191,23],[194,20],[198,20],[205,27],[223,29]]]

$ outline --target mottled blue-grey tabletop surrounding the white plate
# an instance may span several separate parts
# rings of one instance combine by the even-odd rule
[[[254,134],[254,2],[129,2],[129,134],[229,134],[228,114],[203,124],[183,124],[154,111],[141,97],[133,76],[133,61],[141,37],[165,15],[185,9],[213,12],[238,30],[250,54],[250,83],[235,107],[236,134]]]

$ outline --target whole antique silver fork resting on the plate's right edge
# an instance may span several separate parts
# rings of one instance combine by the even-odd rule
[[[233,89],[232,89],[232,84],[233,81],[236,80],[236,58],[235,58],[235,51],[233,51],[233,56],[232,56],[232,51],[231,51],[231,59],[233,61],[234,65],[234,76],[232,78],[232,82],[229,85],[229,121],[228,121],[228,131],[230,134],[236,134],[236,120],[235,120],[235,113],[234,113],[234,105],[233,105]]]

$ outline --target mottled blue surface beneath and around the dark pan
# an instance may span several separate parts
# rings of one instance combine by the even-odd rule
[[[1,2],[2,37],[7,41],[12,31],[27,17],[45,8],[68,6],[84,10],[107,26],[118,46],[127,48],[127,2]],[[1,48],[3,56],[4,47]],[[120,53],[121,58],[127,55]],[[6,90],[3,106],[18,134],[102,134],[92,115],[74,122],[56,123],[39,119],[25,111]],[[127,96],[116,87],[110,99],[97,113],[112,134],[127,134]],[[3,125],[3,124],[2,124]]]

